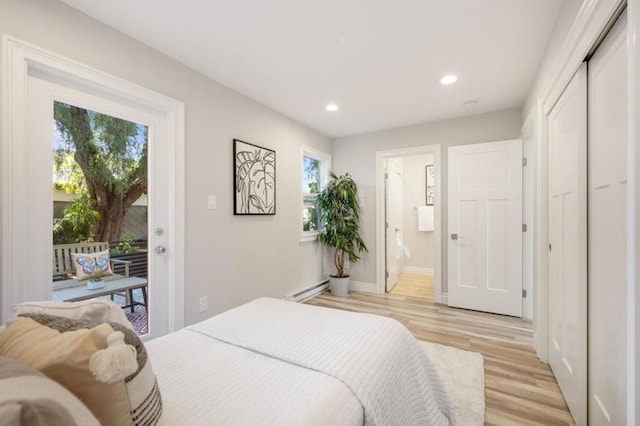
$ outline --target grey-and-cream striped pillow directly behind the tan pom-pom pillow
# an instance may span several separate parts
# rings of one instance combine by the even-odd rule
[[[95,322],[75,321],[51,315],[25,314],[23,316],[60,332],[94,329],[99,326]],[[124,379],[133,424],[154,425],[162,415],[162,398],[144,344],[130,328],[123,327],[118,323],[110,323],[109,325],[113,330],[122,332],[124,343],[133,346],[136,350],[138,368]]]

